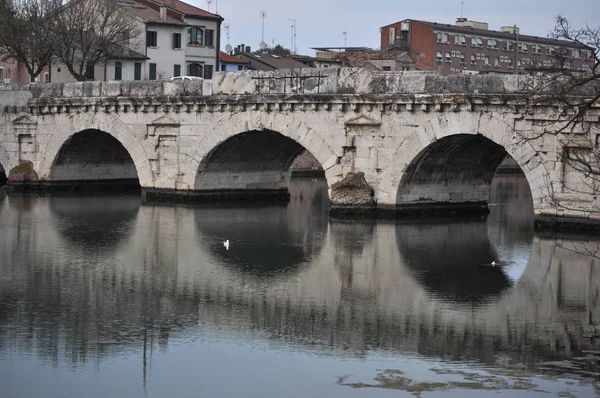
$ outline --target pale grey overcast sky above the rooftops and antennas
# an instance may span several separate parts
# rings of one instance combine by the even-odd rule
[[[208,9],[206,0],[184,0]],[[298,52],[314,55],[311,47],[343,46],[347,31],[348,46],[379,47],[379,28],[406,18],[452,24],[460,17],[460,0],[212,0],[210,11],[229,23],[230,43],[244,43],[252,49],[261,41],[261,10],[265,19],[265,42],[291,47],[289,19],[297,21]],[[574,25],[600,26],[600,0],[465,0],[464,17],[489,23],[489,28],[516,24],[521,33],[547,36],[554,18],[563,14]],[[225,31],[222,48],[227,44]]]

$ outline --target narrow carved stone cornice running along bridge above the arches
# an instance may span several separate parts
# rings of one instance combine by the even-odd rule
[[[32,115],[96,113],[179,112],[459,112],[498,110],[520,113],[527,98],[522,95],[215,95],[174,97],[39,98],[28,102]]]

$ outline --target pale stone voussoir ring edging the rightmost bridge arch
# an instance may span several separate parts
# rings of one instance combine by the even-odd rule
[[[502,148],[519,165],[529,183],[534,211],[538,213],[544,206],[543,200],[549,172],[546,170],[539,154],[529,142],[517,143],[514,137],[514,118],[498,113],[483,112],[456,112],[440,113],[430,118],[426,123],[419,126],[403,145],[398,148],[396,159],[400,162],[390,167],[391,175],[386,180],[393,181],[394,186],[388,188],[390,192],[396,192],[395,198],[389,198],[394,204],[401,204],[403,179],[411,172],[411,164],[423,156],[424,151],[434,145],[440,145],[445,138],[450,140],[464,139],[464,137],[481,137],[481,143],[492,147]],[[452,138],[456,137],[456,138]],[[472,142],[465,140],[465,142]],[[496,152],[495,155],[498,155]],[[501,159],[496,159],[498,164]],[[495,169],[494,169],[495,170]],[[391,178],[390,178],[391,177]],[[388,183],[389,184],[389,183]],[[389,186],[389,185],[388,185]],[[440,200],[443,201],[443,200]],[[486,199],[487,201],[487,199]]]

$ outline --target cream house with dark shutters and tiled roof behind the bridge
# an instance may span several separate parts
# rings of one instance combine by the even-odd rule
[[[223,18],[179,0],[120,0],[133,16],[139,37],[122,54],[95,65],[89,80],[160,80],[174,76],[211,79],[220,64]],[[74,81],[64,65],[54,64],[52,82]]]

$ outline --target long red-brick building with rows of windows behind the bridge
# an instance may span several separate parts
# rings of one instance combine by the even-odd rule
[[[566,50],[572,70],[590,70],[594,56],[585,46],[522,35],[516,26],[489,30],[485,22],[459,18],[455,25],[405,19],[380,28],[382,50],[407,51],[420,70],[452,73],[524,73],[549,68]]]

